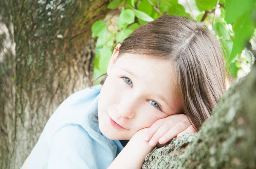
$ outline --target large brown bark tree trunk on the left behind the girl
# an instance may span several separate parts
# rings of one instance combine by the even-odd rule
[[[91,25],[110,0],[0,0],[0,169],[18,169],[47,120],[88,86]]]

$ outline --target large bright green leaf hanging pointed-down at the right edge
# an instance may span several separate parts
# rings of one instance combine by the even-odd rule
[[[230,54],[229,61],[232,62],[236,59],[236,55],[241,53],[249,41],[251,35],[254,31],[254,20],[253,20],[253,10],[247,11],[236,21],[236,33],[233,40],[233,48]]]

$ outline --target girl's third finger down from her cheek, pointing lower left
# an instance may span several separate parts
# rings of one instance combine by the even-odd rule
[[[170,129],[168,132],[166,132],[166,134],[163,135],[163,137],[161,137],[159,139],[159,143],[164,144],[164,143],[172,140],[172,138],[175,138],[177,136],[177,134],[186,130],[188,128],[188,126],[190,126],[190,125],[191,124],[189,121],[180,121],[174,127],[172,127],[172,129]]]

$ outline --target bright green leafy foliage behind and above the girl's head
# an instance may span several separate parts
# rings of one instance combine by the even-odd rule
[[[94,79],[106,73],[117,42],[122,42],[140,25],[161,15],[179,15],[204,22],[220,39],[226,67],[233,79],[242,69],[241,63],[251,65],[253,62],[256,0],[112,0],[108,8],[120,11],[120,15],[116,21],[115,12],[91,27],[92,36],[98,37]]]

